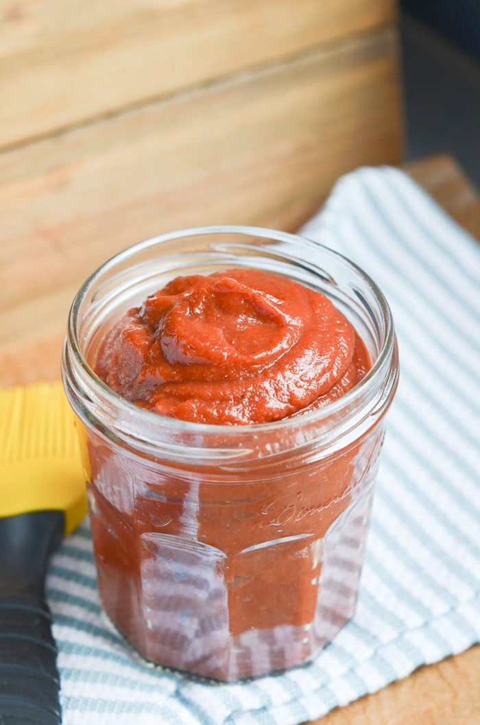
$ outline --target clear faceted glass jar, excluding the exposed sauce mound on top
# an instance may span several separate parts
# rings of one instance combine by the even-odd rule
[[[178,275],[270,270],[316,289],[371,356],[326,407],[254,425],[141,409],[92,361],[131,307]],[[88,278],[70,311],[62,373],[80,422],[102,607],[147,660],[220,681],[305,663],[355,610],[365,537],[397,386],[392,317],[352,262],[253,227],[164,234]]]

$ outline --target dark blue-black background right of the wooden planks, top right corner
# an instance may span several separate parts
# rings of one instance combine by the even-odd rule
[[[480,190],[480,0],[401,0],[405,156],[450,152]]]

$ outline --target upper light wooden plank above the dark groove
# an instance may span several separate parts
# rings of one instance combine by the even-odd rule
[[[4,0],[0,148],[391,22],[395,0]]]

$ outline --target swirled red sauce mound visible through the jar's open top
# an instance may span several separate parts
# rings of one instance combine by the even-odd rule
[[[323,294],[274,273],[233,269],[180,276],[147,297],[112,329],[95,367],[138,406],[239,425],[326,405],[370,361]]]

